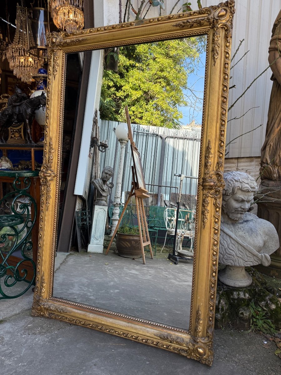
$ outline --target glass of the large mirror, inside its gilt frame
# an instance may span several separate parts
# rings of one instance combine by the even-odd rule
[[[91,90],[79,84],[81,55],[67,54],[61,209],[53,297],[188,330],[206,40],[206,35],[200,35],[94,51],[96,64],[102,64],[102,69],[101,72],[96,69],[96,76],[90,74],[89,79],[89,87],[96,85],[97,92],[101,93],[97,108],[96,99],[87,98],[87,103],[91,103],[92,118],[94,116],[91,136],[97,136],[98,144],[106,145],[105,148],[99,146],[100,150],[96,145],[90,150],[80,150],[80,158],[83,152],[88,154],[88,168],[85,169],[84,193],[76,200],[75,217],[70,218],[69,252],[61,251],[60,243],[69,239],[64,239],[60,218],[62,212],[67,215],[69,210],[64,204],[64,192],[68,191],[66,187],[70,184],[67,176],[71,161],[78,157],[72,152],[72,137],[75,136],[75,126],[78,126],[75,116],[79,96],[85,90],[91,95]],[[91,225],[87,227],[87,214],[95,225],[93,202],[96,189],[90,181],[100,178],[105,166],[114,169],[109,179],[114,187],[109,189],[107,197],[105,243],[106,240],[109,243],[112,233],[112,209],[118,195],[121,153],[115,129],[126,123],[126,105],[149,193],[143,204],[154,257],[151,258],[146,246],[146,264],[138,255],[119,256],[114,246],[108,255],[105,255],[106,247],[103,253],[87,252],[93,231]],[[85,126],[89,123],[84,120]],[[88,138],[88,147],[89,143]],[[120,213],[132,187],[132,165],[130,142],[127,142],[121,176]],[[79,173],[77,171],[77,176]],[[79,182],[76,181],[76,187]],[[175,229],[177,202],[180,209]],[[136,201],[132,197],[121,223],[123,229],[124,226],[130,229],[138,226],[136,214]],[[132,250],[134,246],[129,248]],[[168,259],[173,249],[179,257],[177,264]],[[176,306],[173,301],[177,301]]]

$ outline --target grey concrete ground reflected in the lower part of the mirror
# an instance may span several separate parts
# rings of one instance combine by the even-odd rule
[[[114,252],[70,253],[55,272],[53,296],[188,329],[193,262],[175,266],[158,253],[145,258],[143,264]]]

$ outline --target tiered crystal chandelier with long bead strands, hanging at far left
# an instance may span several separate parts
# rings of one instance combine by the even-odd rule
[[[44,63],[28,54],[26,8],[22,6],[16,7],[16,32],[13,43],[6,49],[6,58],[13,74],[26,83],[31,83],[32,75]]]

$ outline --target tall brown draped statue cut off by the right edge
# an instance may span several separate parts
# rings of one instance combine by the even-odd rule
[[[273,72],[265,142],[261,150],[262,180],[281,180],[281,10],[272,28],[268,61]],[[275,183],[276,184],[276,183]]]

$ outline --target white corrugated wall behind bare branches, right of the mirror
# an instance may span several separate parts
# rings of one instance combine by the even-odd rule
[[[197,9],[197,1],[190,0],[192,9]],[[218,0],[202,0],[202,6],[216,5]],[[269,65],[268,47],[275,18],[281,9],[281,0],[236,0],[236,13],[233,23],[232,55],[240,40],[245,39],[239,48],[234,65],[250,50],[247,55],[230,71],[230,86],[236,85],[229,92],[229,107],[247,89],[251,82]],[[245,116],[227,124],[227,143],[233,138],[246,133],[260,124],[263,126],[235,140],[227,147],[227,157],[260,156],[260,149],[265,139],[268,104],[272,81],[269,68],[254,82],[245,95],[228,113],[228,119],[240,117],[252,107]]]

